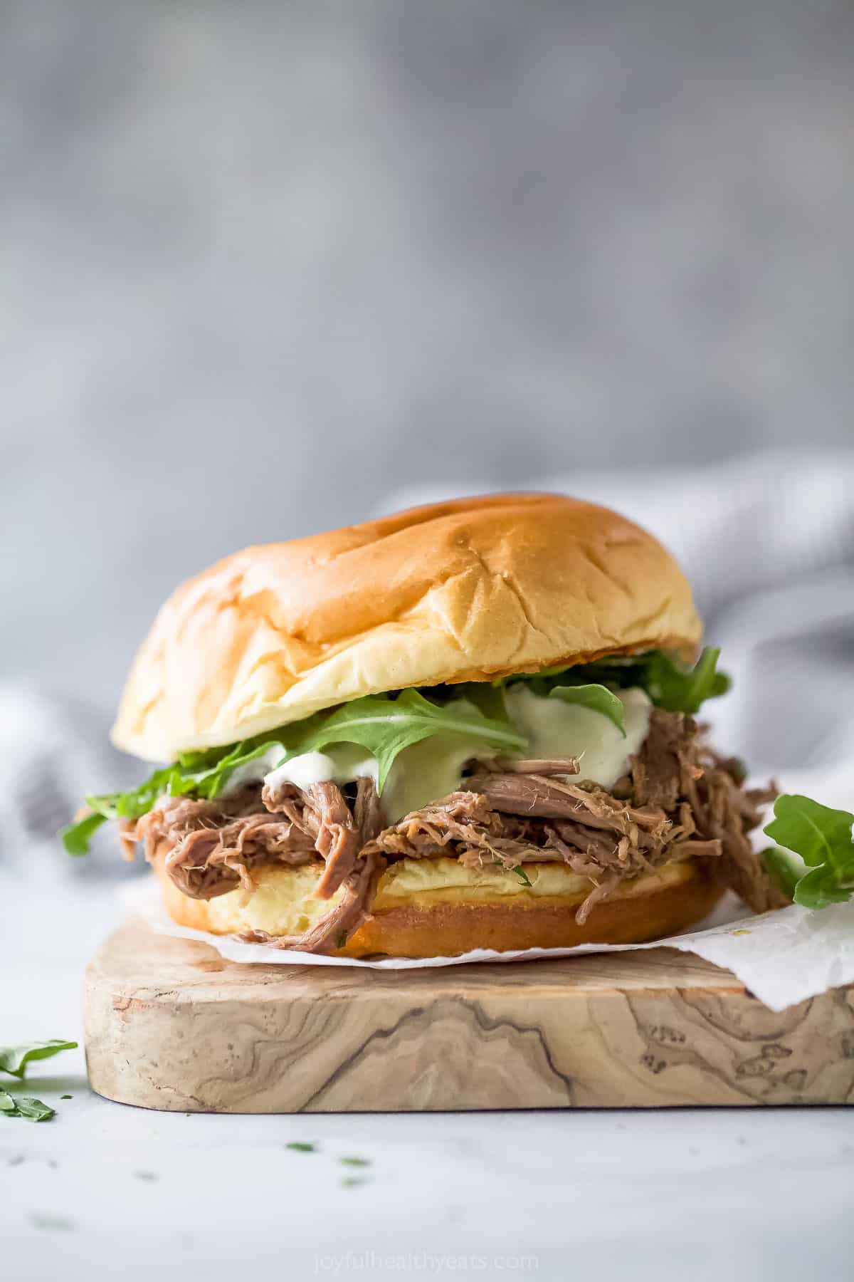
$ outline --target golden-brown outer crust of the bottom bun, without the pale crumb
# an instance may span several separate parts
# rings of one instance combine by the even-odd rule
[[[179,926],[214,935],[229,933],[215,919],[216,900],[187,899],[166,876],[163,860],[155,862],[166,912]],[[583,926],[575,920],[577,895],[540,897],[497,896],[492,901],[443,901],[414,896],[412,903],[389,900],[382,894],[370,918],[335,956],[388,954],[401,958],[455,956],[471,949],[566,949],[577,944],[643,944],[665,938],[700,922],[722,895],[720,882],[695,864],[681,864],[680,878],[670,885],[597,904]],[[260,870],[261,878],[265,876]],[[227,897],[227,896],[223,896]]]

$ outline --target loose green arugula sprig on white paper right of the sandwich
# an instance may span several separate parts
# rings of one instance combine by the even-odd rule
[[[854,840],[851,826],[854,814],[832,810],[812,797],[798,794],[778,796],[773,806],[775,818],[764,832],[786,851],[794,851],[809,872],[803,873],[790,891],[795,904],[804,908],[827,908],[842,904],[854,892]],[[777,879],[791,883],[796,872],[794,858],[784,869],[778,856],[768,856],[767,867]]]

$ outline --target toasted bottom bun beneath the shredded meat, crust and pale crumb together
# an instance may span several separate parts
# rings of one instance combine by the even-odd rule
[[[323,864],[270,865],[254,874],[255,890],[218,899],[187,899],[155,859],[164,903],[179,926],[214,935],[292,936],[329,910],[311,892]],[[403,859],[379,882],[371,913],[337,956],[388,954],[455,956],[471,949],[574,947],[576,944],[639,944],[663,938],[702,920],[721,886],[690,860],[626,881],[597,904],[583,926],[575,920],[590,890],[585,878],[558,864],[525,864],[526,888],[501,869],[466,869],[455,859]]]

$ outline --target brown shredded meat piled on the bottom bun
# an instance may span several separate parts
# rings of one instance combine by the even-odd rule
[[[364,922],[388,860],[439,854],[467,867],[563,863],[590,883],[579,922],[622,881],[689,858],[757,912],[786,901],[748,836],[776,790],[744,790],[739,763],[717,756],[680,713],[653,710],[630,774],[611,791],[575,779],[572,758],[481,762],[474,769],[465,791],[391,827],[373,779],[361,778],[347,796],[326,782],[247,787],[216,801],[161,797],[150,814],[123,824],[122,842],[132,853],[142,841],[149,859],[165,850],[169,877],[192,899],[252,888],[255,869],[265,864],[323,860],[316,896],[343,894],[315,926],[300,936],[242,936],[315,953],[341,946]]]

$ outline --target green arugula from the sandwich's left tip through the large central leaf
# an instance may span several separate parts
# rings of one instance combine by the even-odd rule
[[[172,765],[157,769],[145,783],[127,792],[87,796],[90,813],[60,832],[70,855],[88,853],[92,833],[108,819],[138,819],[147,814],[159,796],[220,796],[232,773],[270,754],[266,769],[289,756],[318,753],[333,744],[359,744],[376,758],[379,792],[394,759],[403,749],[433,735],[461,735],[480,740],[484,749],[522,753],[526,737],[516,729],[503,709],[503,701],[466,697],[471,686],[452,687],[451,701],[434,703],[417,690],[397,695],[366,695],[329,713],[316,713],[301,722],[279,727],[266,735],[228,747],[186,753]],[[488,715],[488,706],[494,715]],[[275,756],[275,763],[271,759]]]

